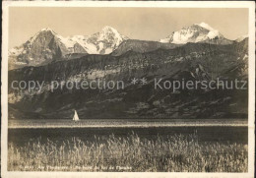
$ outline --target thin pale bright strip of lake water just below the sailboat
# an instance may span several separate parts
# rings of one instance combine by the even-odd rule
[[[149,128],[149,127],[247,127],[242,119],[85,119],[72,120],[10,120],[8,129],[46,128]]]

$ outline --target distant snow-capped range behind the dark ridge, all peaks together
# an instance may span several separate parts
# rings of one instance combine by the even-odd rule
[[[238,37],[237,40],[241,40]],[[52,61],[72,59],[87,54],[121,55],[129,50],[148,52],[156,49],[171,49],[188,42],[231,44],[218,30],[205,23],[194,24],[182,30],[173,31],[164,39],[146,41],[129,39],[111,27],[104,27],[92,35],[63,37],[46,28],[38,31],[24,44],[9,50],[9,70],[25,66],[40,66]]]

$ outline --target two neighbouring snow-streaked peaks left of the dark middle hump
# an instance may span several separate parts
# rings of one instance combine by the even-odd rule
[[[10,69],[39,66],[80,54],[109,54],[128,39],[117,30],[104,27],[92,35],[63,37],[46,28],[34,34],[26,43],[9,51]]]

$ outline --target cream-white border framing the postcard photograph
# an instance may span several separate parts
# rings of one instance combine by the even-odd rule
[[[6,177],[254,177],[255,113],[255,3],[253,1],[4,1],[2,28],[2,95],[1,95],[1,176]],[[248,8],[249,9],[249,121],[247,173],[168,173],[168,172],[11,172],[7,171],[8,134],[8,7],[152,7],[152,8]],[[231,17],[230,17],[231,18]]]

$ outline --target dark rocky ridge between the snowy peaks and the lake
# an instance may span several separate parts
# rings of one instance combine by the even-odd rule
[[[147,84],[131,84],[132,79]],[[128,51],[113,56],[88,54],[72,60],[9,71],[12,119],[72,118],[245,118],[244,89],[154,89],[164,81],[248,80],[248,39],[228,45],[187,43],[172,49]],[[124,89],[56,89],[51,81],[123,81]],[[45,82],[40,92],[12,89],[12,81]]]

